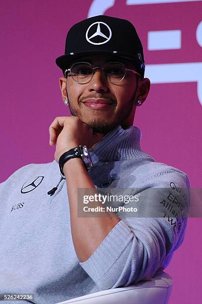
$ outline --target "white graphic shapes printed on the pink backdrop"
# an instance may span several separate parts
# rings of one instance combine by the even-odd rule
[[[142,5],[174,2],[200,2],[199,0],[126,0],[126,5]],[[115,0],[94,0],[89,8],[88,17],[102,15],[115,5]],[[202,47],[202,21],[196,29],[196,41]],[[181,29],[148,31],[148,51],[180,50],[182,47]],[[189,71],[189,73],[187,73]],[[151,83],[197,82],[197,94],[202,105],[202,62],[146,65],[145,77]]]

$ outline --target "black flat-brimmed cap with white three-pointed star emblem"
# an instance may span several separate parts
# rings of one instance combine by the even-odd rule
[[[65,55],[58,57],[56,64],[65,76],[69,63],[91,54],[129,59],[135,64],[136,72],[144,77],[142,44],[134,25],[126,19],[99,15],[74,24],[67,33]]]

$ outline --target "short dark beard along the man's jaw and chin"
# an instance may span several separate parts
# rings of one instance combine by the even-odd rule
[[[78,117],[81,121],[85,122],[87,125],[89,125],[94,133],[100,133],[104,136],[111,132],[116,126],[121,125],[122,122],[124,122],[131,114],[131,111],[134,106],[135,102],[135,96],[136,96],[137,87],[135,89],[134,94],[132,95],[129,102],[125,105],[124,108],[119,109],[119,111],[116,113],[115,117],[113,118],[113,121],[106,122],[102,117],[96,118],[92,117],[88,120],[84,119],[81,114],[81,102],[78,103],[78,108],[73,106],[73,103],[69,101],[69,110],[71,112],[72,116]],[[117,104],[114,105],[114,109],[116,108]]]

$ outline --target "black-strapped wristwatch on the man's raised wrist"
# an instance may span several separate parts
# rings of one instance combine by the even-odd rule
[[[74,157],[80,157],[83,160],[83,163],[88,170],[90,170],[93,166],[92,159],[90,157],[90,153],[87,150],[86,146],[78,146],[68,150],[67,152],[63,153],[59,158],[59,169],[61,176],[65,179],[65,174],[63,172],[63,166],[67,160]]]

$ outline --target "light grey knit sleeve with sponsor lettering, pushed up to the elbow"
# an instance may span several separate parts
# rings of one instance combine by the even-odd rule
[[[143,185],[131,189],[138,202],[124,204],[136,207],[137,215],[118,212],[122,220],[80,262],[101,290],[150,280],[169,264],[184,240],[190,207],[188,176],[170,169],[147,178]]]

